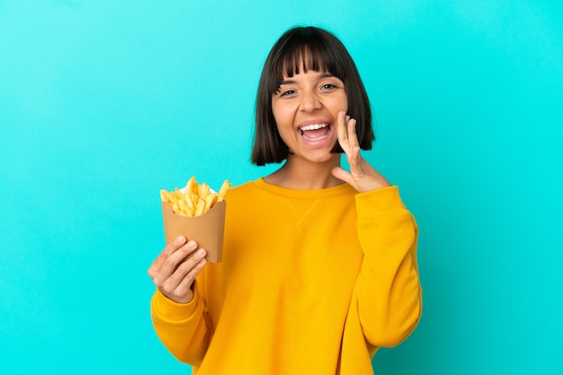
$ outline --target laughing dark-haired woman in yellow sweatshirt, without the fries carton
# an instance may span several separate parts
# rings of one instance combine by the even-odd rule
[[[398,188],[362,158],[370,103],[335,36],[281,36],[255,126],[252,161],[285,162],[228,193],[221,263],[184,238],[156,258],[156,333],[198,375],[372,374],[377,349],[420,318],[418,230]]]

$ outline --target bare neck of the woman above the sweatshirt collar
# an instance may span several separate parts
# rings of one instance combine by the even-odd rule
[[[294,188],[299,190],[316,190],[319,188],[332,188],[343,183],[332,174],[335,167],[340,166],[340,154],[325,162],[310,162],[296,160],[291,156],[271,175],[265,178],[266,182],[281,188]]]

